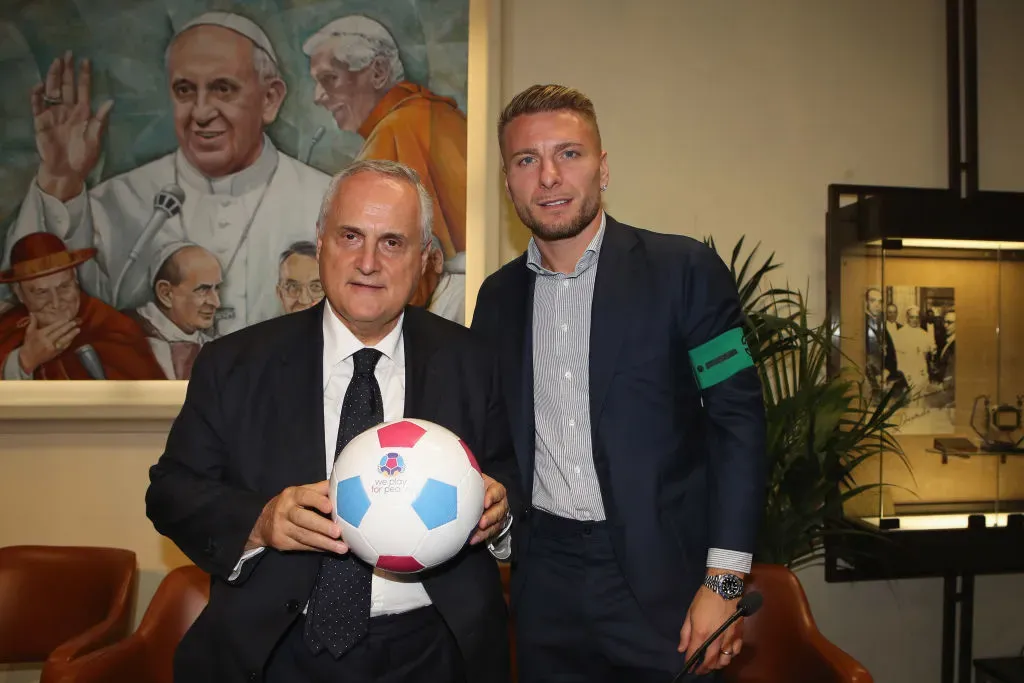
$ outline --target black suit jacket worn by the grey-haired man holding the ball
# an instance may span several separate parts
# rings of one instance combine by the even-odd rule
[[[258,680],[312,591],[322,554],[268,549],[227,582],[264,504],[325,478],[324,304],[203,347],[167,447],[152,468],[146,513],[211,575],[210,602],[181,641],[175,680]],[[505,484],[519,476],[497,362],[469,330],[420,308],[403,322],[406,417],[447,427]],[[468,680],[507,681],[507,614],[485,544],[426,571],[427,594],[455,634]]]

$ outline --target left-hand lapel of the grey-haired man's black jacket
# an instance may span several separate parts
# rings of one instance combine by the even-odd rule
[[[324,300],[326,301],[326,299]],[[298,483],[322,481],[326,475],[324,451],[324,302],[296,316],[295,335],[281,353],[275,386],[281,424],[288,425],[283,447],[290,478]],[[278,416],[274,416],[275,418]],[[294,483],[294,482],[293,482]]]

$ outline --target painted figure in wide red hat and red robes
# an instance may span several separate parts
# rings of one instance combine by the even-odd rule
[[[3,379],[164,379],[139,326],[80,289],[75,267],[95,253],[46,232],[14,244],[0,272],[19,301],[0,315]]]

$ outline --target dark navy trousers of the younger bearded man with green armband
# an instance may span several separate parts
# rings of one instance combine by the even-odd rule
[[[644,615],[604,522],[534,510],[520,563],[527,565],[515,606],[520,683],[670,683],[682,670],[678,633],[659,633]]]

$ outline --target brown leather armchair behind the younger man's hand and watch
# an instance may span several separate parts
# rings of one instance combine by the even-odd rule
[[[723,683],[872,683],[860,663],[818,631],[788,568],[755,564],[748,585],[764,604],[743,621],[743,649],[722,671]]]

